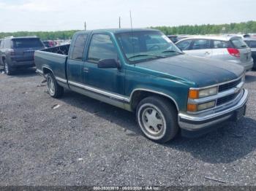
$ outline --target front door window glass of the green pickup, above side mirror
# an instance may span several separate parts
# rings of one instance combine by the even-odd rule
[[[116,48],[110,36],[106,34],[94,34],[91,38],[88,60],[97,63],[102,59],[117,59]]]

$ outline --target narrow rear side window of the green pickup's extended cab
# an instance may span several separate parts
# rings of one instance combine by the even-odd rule
[[[72,53],[72,59],[83,61],[83,50],[86,46],[86,39],[88,34],[80,34],[75,40],[74,50]]]

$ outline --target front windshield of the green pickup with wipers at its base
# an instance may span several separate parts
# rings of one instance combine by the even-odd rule
[[[183,54],[159,31],[130,31],[116,34],[116,39],[130,63]]]

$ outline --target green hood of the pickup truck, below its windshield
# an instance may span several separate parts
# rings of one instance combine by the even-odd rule
[[[209,58],[177,55],[153,61],[137,63],[136,67],[151,70],[154,75],[168,75],[195,83],[197,87],[227,82],[240,77],[244,67]]]

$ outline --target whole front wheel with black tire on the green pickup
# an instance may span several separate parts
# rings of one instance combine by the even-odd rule
[[[178,133],[177,112],[165,98],[151,96],[140,101],[136,119],[140,130],[152,141],[165,143]]]

